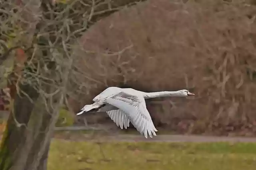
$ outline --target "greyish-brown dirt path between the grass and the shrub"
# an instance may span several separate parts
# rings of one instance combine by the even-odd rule
[[[124,134],[121,129],[113,127],[105,128],[106,131],[93,131],[93,134],[86,134],[80,130],[84,127],[56,128],[55,138],[71,141],[127,141],[127,142],[250,142],[256,143],[256,137],[225,137],[206,135],[157,135],[153,138],[136,134]],[[102,129],[103,127],[93,127],[92,129]],[[58,129],[58,130],[57,130]],[[103,128],[104,129],[104,128]],[[112,130],[111,130],[112,129]],[[64,130],[64,131],[63,131]],[[91,131],[92,132],[92,131]]]

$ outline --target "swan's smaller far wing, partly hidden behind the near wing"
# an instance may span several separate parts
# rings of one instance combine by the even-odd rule
[[[117,126],[120,126],[123,129],[129,127],[130,120],[128,119],[126,113],[124,111],[117,109],[117,110],[110,110],[107,111],[109,117],[116,123]]]

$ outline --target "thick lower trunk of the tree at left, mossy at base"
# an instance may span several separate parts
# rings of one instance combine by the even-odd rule
[[[20,85],[20,88],[30,98],[16,95],[14,112],[8,119],[2,139],[0,170],[46,170],[53,131],[49,127],[54,124],[54,115],[44,109],[34,88],[29,85]]]

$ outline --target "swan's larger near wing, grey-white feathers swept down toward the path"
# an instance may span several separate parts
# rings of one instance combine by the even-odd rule
[[[105,99],[105,102],[118,107],[128,119],[132,122],[134,127],[147,138],[156,136],[156,128],[146,108],[145,100],[142,96],[133,96],[120,92]]]

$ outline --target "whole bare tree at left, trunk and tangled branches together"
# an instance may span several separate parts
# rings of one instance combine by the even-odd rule
[[[16,59],[8,77],[13,106],[1,143],[0,170],[46,169],[59,108],[71,95],[72,46],[95,21],[137,0],[54,2],[0,2],[0,64],[11,55]]]

